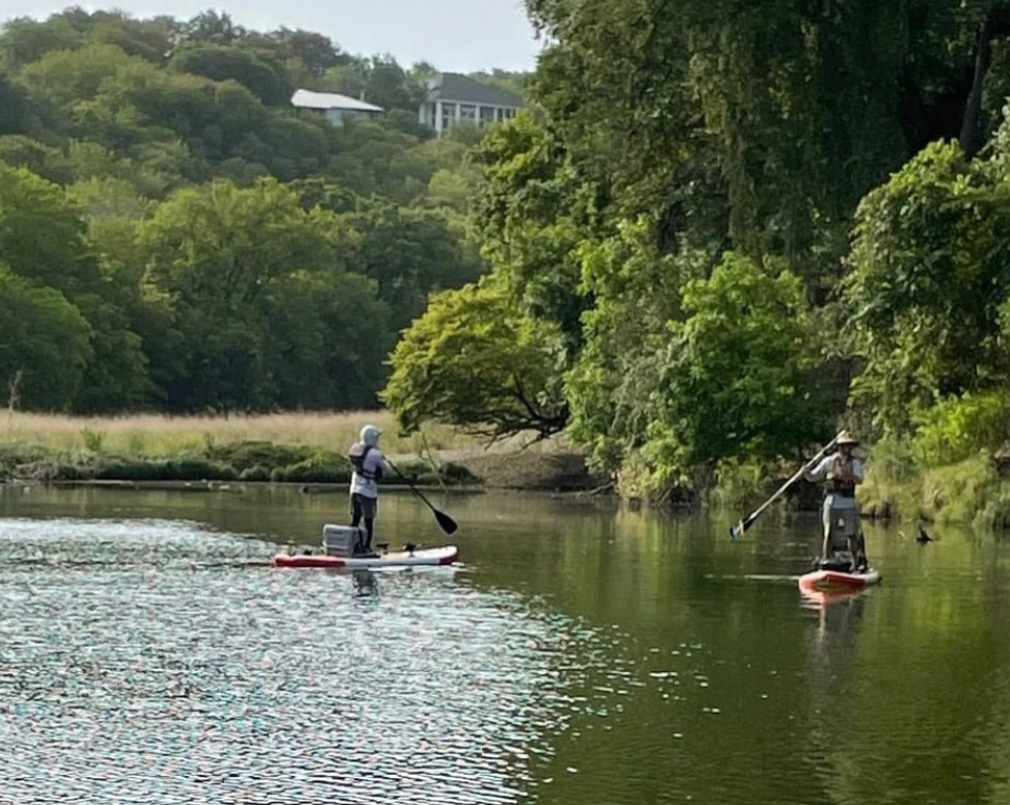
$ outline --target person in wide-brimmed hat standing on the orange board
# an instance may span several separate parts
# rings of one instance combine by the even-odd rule
[[[829,560],[832,552],[848,548],[852,570],[867,570],[866,540],[860,523],[860,508],[855,503],[855,487],[863,483],[863,462],[852,455],[860,443],[847,430],[838,434],[837,451],[826,456],[804,476],[815,483],[826,481],[822,519],[824,544],[821,559]]]

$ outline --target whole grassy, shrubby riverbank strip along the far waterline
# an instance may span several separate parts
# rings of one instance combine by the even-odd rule
[[[529,438],[490,447],[445,426],[400,436],[387,412],[285,413],[261,416],[70,417],[20,412],[0,415],[0,483],[169,485],[220,489],[236,482],[297,484],[309,493],[345,489],[344,450],[361,427],[383,429],[383,447],[411,483],[424,488],[509,489],[620,494],[659,507],[707,505],[745,512],[795,472],[783,464],[742,463],[723,470],[715,485],[646,494],[634,485],[592,473],[578,447],[554,438]],[[860,491],[868,517],[1010,527],[1010,460],[979,452],[928,466],[908,445],[869,449]],[[394,487],[398,479],[386,481]],[[793,486],[776,508],[816,510],[820,489]]]

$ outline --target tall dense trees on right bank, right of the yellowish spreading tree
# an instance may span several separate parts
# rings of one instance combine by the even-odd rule
[[[526,6],[548,46],[475,223],[600,466],[663,486],[842,417],[1006,439],[1010,3]]]

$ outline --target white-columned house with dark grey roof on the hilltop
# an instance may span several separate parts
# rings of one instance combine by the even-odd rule
[[[483,126],[515,117],[522,98],[489,87],[459,73],[438,73],[428,80],[428,93],[417,113],[421,125],[439,134],[457,123]]]

